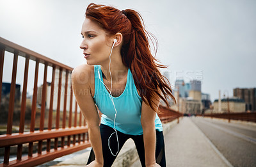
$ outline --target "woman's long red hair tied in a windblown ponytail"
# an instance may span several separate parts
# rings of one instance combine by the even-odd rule
[[[146,104],[159,112],[156,110],[155,100],[160,98],[167,106],[169,106],[168,97],[175,101],[168,79],[158,70],[166,66],[156,63],[159,61],[150,52],[148,39],[154,39],[156,43],[157,40],[145,30],[140,13],[131,9],[121,12],[113,6],[91,3],[85,15],[87,19],[98,22],[109,36],[122,33],[122,61],[130,68],[136,88]]]

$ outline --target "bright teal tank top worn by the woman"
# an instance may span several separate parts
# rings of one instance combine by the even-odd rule
[[[100,82],[103,82],[100,65],[94,66],[95,93],[94,102],[102,113],[100,123],[114,128],[115,108],[109,97],[109,92]],[[116,107],[116,130],[124,134],[143,134],[140,118],[142,99],[138,94],[130,68],[128,69],[125,90],[122,95],[113,97]],[[156,115],[156,130],[163,131],[163,126],[159,116]]]

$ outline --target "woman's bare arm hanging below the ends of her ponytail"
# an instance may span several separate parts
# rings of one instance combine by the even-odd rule
[[[157,103],[158,104],[158,103]],[[146,166],[159,166],[156,164],[156,112],[145,102],[141,106],[141,125],[145,147]]]

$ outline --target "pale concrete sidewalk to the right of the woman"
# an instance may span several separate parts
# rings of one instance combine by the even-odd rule
[[[165,142],[167,166],[230,166],[189,117],[165,135]]]

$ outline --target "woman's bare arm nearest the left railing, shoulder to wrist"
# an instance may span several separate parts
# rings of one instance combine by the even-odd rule
[[[81,65],[76,67],[72,72],[72,88],[76,96],[77,104],[80,111],[86,118],[88,125],[88,134],[92,143],[92,148],[95,153],[95,162],[99,166],[103,166],[102,143],[99,129],[99,113],[93,102],[93,97],[90,91],[90,75],[92,67]]]

